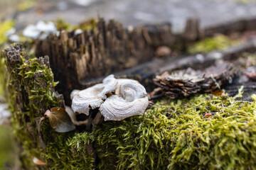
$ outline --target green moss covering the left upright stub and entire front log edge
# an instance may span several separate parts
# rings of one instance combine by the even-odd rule
[[[9,60],[6,52],[14,49]],[[235,97],[162,98],[144,115],[102,123],[91,133],[58,133],[46,121],[42,149],[35,119],[61,106],[47,57],[28,59],[21,45],[1,57],[23,169],[256,169],[256,95],[252,102],[238,100],[242,89]],[[35,165],[31,157],[47,165]]]

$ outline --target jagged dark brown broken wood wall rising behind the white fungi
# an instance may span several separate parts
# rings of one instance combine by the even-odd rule
[[[210,55],[203,56],[203,62],[195,57],[191,57],[191,59],[189,59],[190,57],[179,57],[178,59],[167,57],[157,61],[155,52],[156,48],[162,45],[175,45],[184,50],[186,45],[191,42],[213,36],[215,33],[225,35],[235,31],[243,33],[252,30],[250,21],[253,19],[200,29],[198,20],[189,19],[184,32],[174,34],[170,23],[125,29],[116,21],[111,20],[109,23],[105,23],[101,18],[94,30],[85,30],[79,35],[75,35],[74,31],[68,33],[62,30],[59,37],[50,35],[46,40],[37,42],[36,56],[50,56],[50,65],[55,79],[60,81],[59,92],[65,96],[65,101],[70,103],[69,95],[73,89],[87,88],[95,80],[97,81],[98,78],[102,80],[102,77],[106,77],[108,74],[117,73],[117,75],[123,76],[125,75],[123,73],[126,73],[130,75],[132,70],[141,68],[143,70],[139,71],[139,74],[132,73],[132,77],[144,81],[142,82],[144,86],[147,86],[146,84],[152,86],[153,81],[146,78],[150,74],[156,74],[159,68],[161,68],[159,71],[163,72],[189,66],[189,64],[181,62],[192,65],[212,62],[208,59]],[[241,47],[250,48],[246,45],[241,45]],[[238,50],[238,53],[240,51],[239,49],[235,50]],[[241,51],[247,50],[241,49]],[[226,58],[237,55],[235,51],[227,52],[227,54],[225,52],[222,54]],[[152,63],[148,63],[149,61]],[[149,65],[150,67],[148,67]],[[155,73],[152,73],[151,70]],[[148,90],[151,89],[148,88]]]

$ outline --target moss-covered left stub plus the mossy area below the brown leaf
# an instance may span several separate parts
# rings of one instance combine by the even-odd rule
[[[89,150],[90,135],[85,138],[74,132],[57,133],[46,121],[41,125],[41,133],[47,149],[40,145],[36,118],[42,117],[47,109],[61,105],[54,94],[56,83],[47,57],[28,60],[19,44],[4,50],[3,57],[9,71],[8,102],[12,126],[22,146],[19,157],[22,169],[92,169],[95,159]],[[36,166],[31,157],[41,159],[47,166]]]

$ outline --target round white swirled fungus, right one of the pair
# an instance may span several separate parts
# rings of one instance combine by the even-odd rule
[[[146,89],[139,81],[117,79],[115,95],[110,96],[100,106],[100,112],[106,120],[124,120],[125,118],[142,115],[149,106]]]

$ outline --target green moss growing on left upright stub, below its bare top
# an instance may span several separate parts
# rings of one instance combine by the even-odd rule
[[[23,154],[22,162],[31,166],[31,157],[41,158],[42,149],[38,146],[38,135],[35,132],[35,118],[42,117],[43,110],[53,106],[58,106],[58,101],[55,101],[50,89],[55,86],[53,84],[53,74],[46,67],[40,65],[36,59],[25,60],[25,54],[21,52],[21,61],[16,62],[16,66],[12,67],[9,73],[9,104],[11,106],[12,123],[16,137],[22,143]],[[41,77],[36,79],[34,73],[42,73]],[[43,79],[43,81],[40,81]],[[42,82],[45,84],[45,89],[42,87]],[[17,106],[18,100],[23,100],[23,106]],[[42,103],[39,108],[39,104]],[[47,135],[51,135],[49,130]]]

